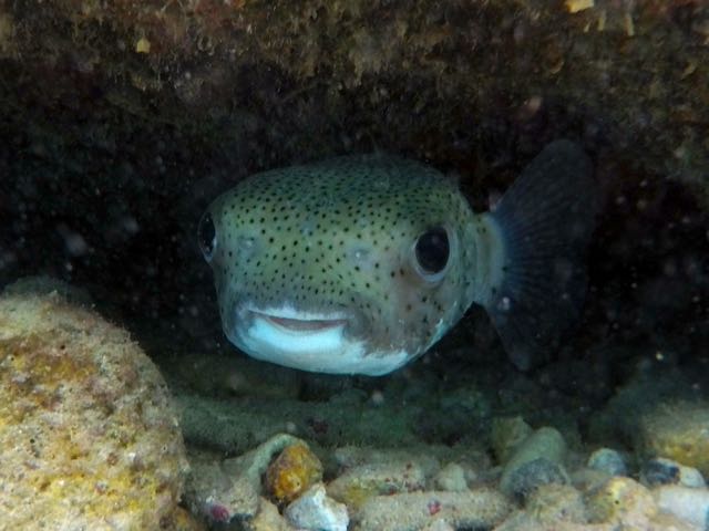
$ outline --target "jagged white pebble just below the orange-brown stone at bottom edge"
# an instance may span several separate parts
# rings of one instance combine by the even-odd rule
[[[347,531],[350,522],[345,504],[328,498],[322,483],[306,490],[285,516],[294,527],[309,531]]]

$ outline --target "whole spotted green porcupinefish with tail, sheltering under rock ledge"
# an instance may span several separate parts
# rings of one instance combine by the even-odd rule
[[[556,140],[484,214],[436,169],[392,156],[253,175],[198,228],[224,332],[258,360],[382,375],[476,303],[527,369],[580,312],[592,174],[579,147]]]

